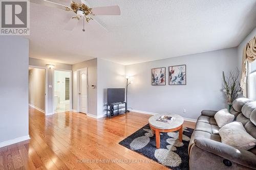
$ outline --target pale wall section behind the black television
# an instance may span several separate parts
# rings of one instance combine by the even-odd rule
[[[97,98],[98,117],[106,114],[104,105],[108,102],[108,88],[125,87],[125,66],[98,58],[97,69]]]

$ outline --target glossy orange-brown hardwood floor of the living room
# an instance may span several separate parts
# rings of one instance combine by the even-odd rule
[[[94,119],[65,112],[45,117],[30,107],[31,139],[0,148],[0,169],[168,169],[118,144],[150,116],[130,112]],[[195,123],[184,126],[194,128]]]

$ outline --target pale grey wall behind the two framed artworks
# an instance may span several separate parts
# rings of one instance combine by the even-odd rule
[[[237,48],[187,55],[126,66],[133,84],[128,90],[128,107],[154,113],[176,113],[197,118],[201,110],[226,108],[222,92],[222,70],[237,67]],[[168,66],[186,64],[187,85],[168,85]],[[151,69],[166,67],[166,85],[151,85]],[[183,113],[186,109],[186,113]]]

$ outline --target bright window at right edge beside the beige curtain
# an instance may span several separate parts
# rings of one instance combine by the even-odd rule
[[[249,64],[248,97],[256,100],[256,61]]]

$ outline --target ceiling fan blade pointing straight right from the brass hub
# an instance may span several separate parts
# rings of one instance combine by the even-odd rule
[[[121,11],[118,5],[108,7],[96,7],[92,9],[94,15],[120,15]]]

